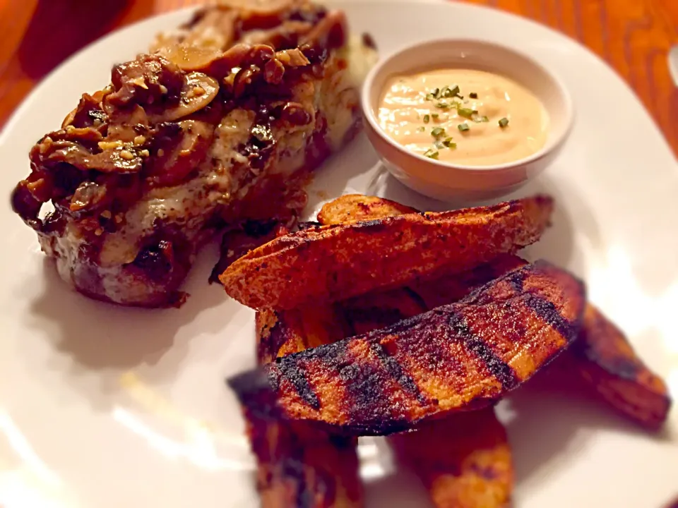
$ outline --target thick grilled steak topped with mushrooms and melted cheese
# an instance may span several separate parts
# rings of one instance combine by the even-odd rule
[[[303,0],[201,11],[40,139],[13,209],[78,291],[172,304],[207,238],[262,219],[254,200],[294,217],[304,174],[355,135],[358,40]]]

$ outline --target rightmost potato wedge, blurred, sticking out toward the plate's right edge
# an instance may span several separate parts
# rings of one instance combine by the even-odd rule
[[[671,406],[664,381],[594,306],[587,306],[584,326],[570,353],[581,377],[602,399],[649,430],[661,428]]]

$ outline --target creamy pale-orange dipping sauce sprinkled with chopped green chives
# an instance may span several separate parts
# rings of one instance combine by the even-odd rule
[[[453,68],[391,78],[379,104],[383,131],[442,162],[489,166],[546,143],[549,116],[535,95],[502,75]]]

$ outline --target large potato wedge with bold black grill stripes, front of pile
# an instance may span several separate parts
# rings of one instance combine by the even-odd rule
[[[576,337],[584,297],[578,279],[538,262],[459,303],[278,358],[230,385],[271,389],[290,418],[353,435],[395,433],[492,404],[528,380]]]

